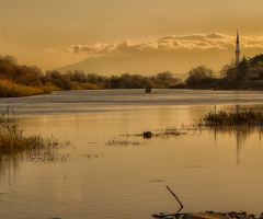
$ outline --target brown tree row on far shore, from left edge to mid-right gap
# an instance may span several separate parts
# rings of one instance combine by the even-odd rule
[[[53,84],[61,90],[71,89],[167,89],[182,80],[171,72],[160,72],[157,76],[123,73],[121,76],[100,76],[85,73],[82,70],[69,70],[61,73],[58,70],[46,70],[33,66],[20,66],[12,56],[0,57],[0,79],[16,84],[41,87]]]

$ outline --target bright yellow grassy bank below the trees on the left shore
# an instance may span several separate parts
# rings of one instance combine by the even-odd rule
[[[59,89],[53,84],[42,87],[27,87],[23,84],[16,84],[8,80],[0,80],[0,97],[20,97],[37,94],[48,94],[56,90]]]

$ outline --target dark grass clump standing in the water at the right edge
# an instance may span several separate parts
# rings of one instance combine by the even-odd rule
[[[203,117],[205,126],[263,126],[263,114],[255,111],[210,112]]]

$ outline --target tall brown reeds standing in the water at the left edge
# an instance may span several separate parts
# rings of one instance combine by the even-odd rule
[[[54,138],[24,136],[15,122],[13,112],[8,108],[0,115],[0,160],[4,157],[26,152],[31,158],[54,160],[59,142]]]

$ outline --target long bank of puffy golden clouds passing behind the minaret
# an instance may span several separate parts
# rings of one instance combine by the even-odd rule
[[[185,36],[164,36],[155,41],[132,44],[129,41],[121,44],[73,45],[67,53],[88,54],[134,54],[144,51],[167,51],[176,49],[231,49],[236,45],[236,36],[224,34],[196,34]],[[263,37],[240,37],[241,48],[263,48]]]

